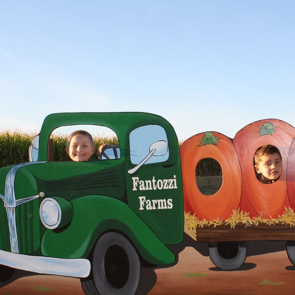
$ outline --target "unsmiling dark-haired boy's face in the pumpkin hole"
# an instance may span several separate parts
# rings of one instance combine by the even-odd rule
[[[261,182],[275,182],[282,173],[282,159],[278,153],[263,155],[261,161],[255,165],[255,170],[260,174]]]

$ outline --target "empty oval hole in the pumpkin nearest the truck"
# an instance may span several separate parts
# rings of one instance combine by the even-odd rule
[[[196,183],[202,194],[216,194],[222,185],[222,169],[218,161],[213,158],[200,160],[196,168]]]

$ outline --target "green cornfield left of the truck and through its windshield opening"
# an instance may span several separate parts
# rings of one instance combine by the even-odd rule
[[[0,167],[29,162],[29,146],[36,133],[25,133],[20,130],[0,131]],[[66,139],[68,135],[52,136],[54,161],[68,161],[69,156],[65,151]],[[95,150],[97,151],[102,144],[118,144],[116,136],[112,137],[93,137]],[[95,152],[90,160],[98,158]]]

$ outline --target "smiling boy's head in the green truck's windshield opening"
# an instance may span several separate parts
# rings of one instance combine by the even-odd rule
[[[86,135],[73,136],[69,146],[65,148],[70,158],[76,162],[88,161],[94,149],[89,137]]]

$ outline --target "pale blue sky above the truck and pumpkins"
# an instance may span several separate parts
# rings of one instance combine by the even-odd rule
[[[295,126],[295,1],[0,1],[0,129],[151,112],[179,140]]]

